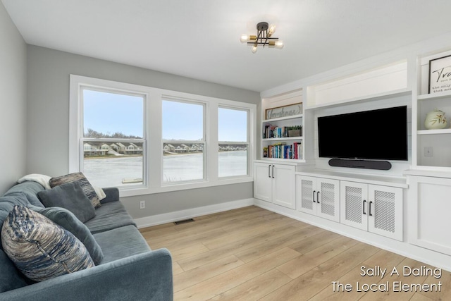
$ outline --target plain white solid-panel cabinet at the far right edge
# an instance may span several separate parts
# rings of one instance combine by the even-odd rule
[[[451,178],[409,176],[410,243],[451,255],[450,212]]]

